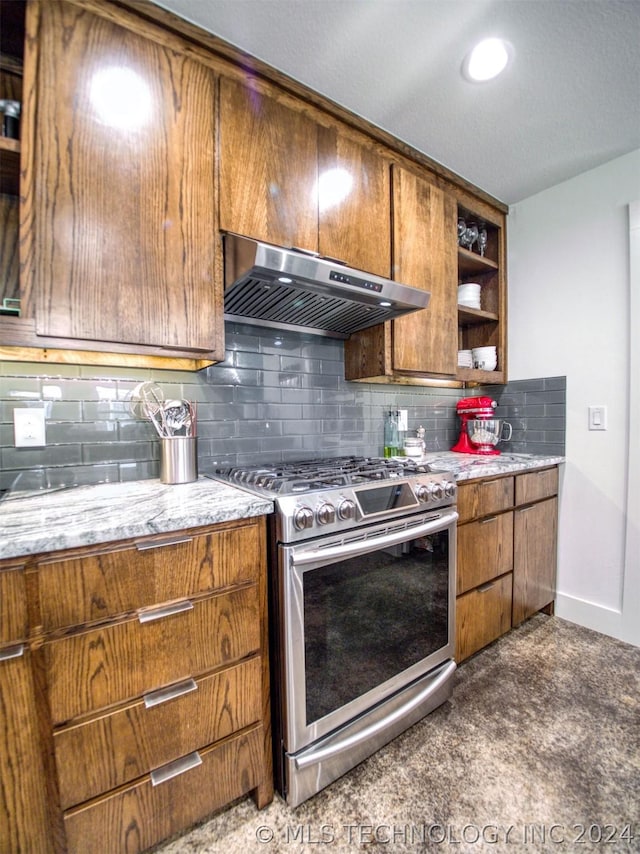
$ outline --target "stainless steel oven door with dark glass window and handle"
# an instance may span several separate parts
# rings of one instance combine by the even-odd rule
[[[453,658],[455,508],[279,547],[283,748]]]

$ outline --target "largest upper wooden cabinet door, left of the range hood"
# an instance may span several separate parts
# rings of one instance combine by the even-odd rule
[[[38,334],[213,350],[212,71],[117,10],[41,13]]]

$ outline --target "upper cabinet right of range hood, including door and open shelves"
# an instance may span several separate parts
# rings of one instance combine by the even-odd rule
[[[506,382],[505,216],[427,170],[396,163],[393,277],[431,293],[427,308],[345,342],[345,378],[460,386]],[[473,206],[473,209],[472,207]],[[457,220],[486,224],[485,255],[457,245]],[[482,218],[481,218],[482,217]],[[457,287],[481,284],[481,309],[457,305]],[[458,366],[458,350],[495,346],[494,371]]]

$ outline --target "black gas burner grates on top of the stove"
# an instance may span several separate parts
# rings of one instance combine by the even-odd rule
[[[409,459],[334,457],[278,463],[271,468],[231,466],[216,469],[215,475],[238,485],[258,487],[277,495],[294,495],[407,477],[426,471],[425,466]]]

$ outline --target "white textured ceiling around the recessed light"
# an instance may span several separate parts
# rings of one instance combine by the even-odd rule
[[[156,0],[513,204],[640,148],[640,0]],[[466,82],[476,41],[515,56]]]

